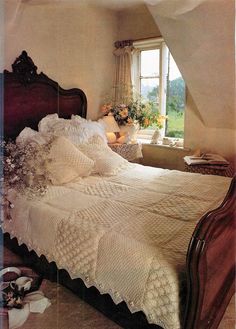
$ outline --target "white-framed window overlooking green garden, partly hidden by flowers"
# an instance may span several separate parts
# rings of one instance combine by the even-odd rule
[[[153,111],[167,115],[162,137],[184,137],[185,83],[163,40],[135,42],[133,80],[135,89],[153,103]],[[154,127],[141,131],[150,139]]]

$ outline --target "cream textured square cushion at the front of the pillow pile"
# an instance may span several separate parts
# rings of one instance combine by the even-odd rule
[[[89,176],[94,161],[80,152],[65,137],[57,137],[51,144],[47,171],[53,185],[68,183],[77,177]]]

